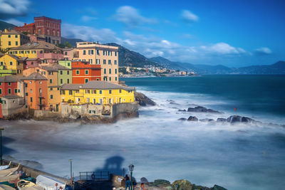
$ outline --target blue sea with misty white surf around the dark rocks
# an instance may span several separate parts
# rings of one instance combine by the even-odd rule
[[[187,179],[227,189],[285,188],[284,75],[120,80],[156,105],[140,107],[139,117],[114,124],[1,120],[4,157],[34,161],[36,168],[66,178],[72,159],[76,177],[80,171],[122,175],[133,163],[137,181],[145,177]],[[178,111],[197,105],[222,114]],[[217,120],[236,114],[261,123],[178,120],[190,116]]]

